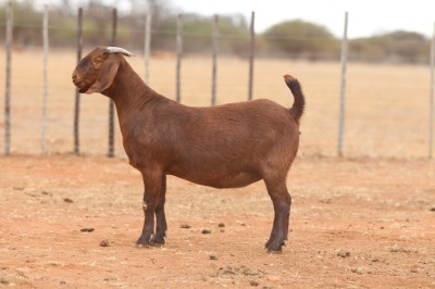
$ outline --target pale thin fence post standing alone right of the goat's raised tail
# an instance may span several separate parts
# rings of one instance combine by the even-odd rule
[[[345,133],[345,108],[346,108],[346,68],[347,68],[347,23],[348,13],[345,12],[345,30],[341,40],[341,86],[340,86],[340,103],[338,115],[338,155],[343,156],[343,135]]]

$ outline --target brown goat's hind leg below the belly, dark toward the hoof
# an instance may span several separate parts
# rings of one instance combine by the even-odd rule
[[[288,193],[285,178],[264,179],[264,183],[275,212],[271,237],[265,243],[265,248],[269,252],[282,251],[287,241],[291,197]]]

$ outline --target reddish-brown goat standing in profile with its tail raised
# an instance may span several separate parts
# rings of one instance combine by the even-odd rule
[[[275,211],[265,247],[281,251],[291,205],[286,178],[304,108],[299,81],[284,76],[295,98],[290,109],[265,99],[190,108],[148,87],[121,54],[132,55],[122,48],[95,48],[78,63],[73,83],[82,93],[100,92],[115,103],[125,152],[145,186],[144,228],[136,244],[164,243],[166,175],[174,175],[214,188],[263,179]]]

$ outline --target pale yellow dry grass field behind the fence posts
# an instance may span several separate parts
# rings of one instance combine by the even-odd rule
[[[2,51],[4,55],[4,51]],[[51,51],[49,58],[49,100],[47,150],[73,151],[74,87],[71,73],[74,51]],[[145,75],[144,59],[129,60]],[[307,113],[302,118],[300,155],[335,155],[338,131],[339,63],[290,60],[258,60],[254,98],[269,98],[289,106],[293,98],[282,75],[294,74],[302,83]],[[4,56],[0,58],[4,67]],[[151,60],[150,85],[162,95],[175,98],[175,59]],[[209,105],[211,58],[185,59],[182,63],[182,102]],[[217,75],[217,103],[247,98],[248,63],[221,59]],[[13,54],[12,67],[12,152],[40,152],[42,102],[42,54],[24,51]],[[0,71],[4,79],[4,70]],[[4,87],[2,88],[4,91]],[[430,71],[425,66],[369,65],[348,66],[345,154],[350,156],[424,158],[428,151]],[[4,101],[0,103],[1,122]],[[116,128],[117,129],[117,128]],[[0,123],[3,135],[3,125]],[[108,101],[99,95],[83,96],[80,149],[88,154],[105,154]],[[3,141],[0,150],[3,151]],[[116,153],[123,155],[116,130]]]

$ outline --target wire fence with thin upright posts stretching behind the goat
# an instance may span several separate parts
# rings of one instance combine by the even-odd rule
[[[49,51],[51,28],[47,10],[39,32],[42,48],[14,47],[12,8],[8,15],[2,58],[5,62],[1,65],[5,70],[0,72],[0,77],[5,79],[1,110],[4,122],[0,122],[4,154],[71,152],[123,156],[113,104],[109,102],[108,110],[101,97],[83,98],[71,83],[70,75],[82,58],[82,50],[86,53],[90,49],[83,37],[83,11],[77,17],[76,51],[73,47]],[[347,49],[347,17],[346,13],[341,53]],[[149,23],[150,18],[149,15]],[[111,37],[105,37],[101,45],[128,48],[116,37],[116,10],[112,22],[107,22]],[[226,38],[219,32],[217,16],[213,22],[212,35],[184,35],[181,15],[177,35],[167,36],[172,38],[173,53],[158,49],[150,53],[156,32],[147,26],[139,39],[144,50],[136,47],[139,56],[129,62],[156,90],[189,105],[269,98],[289,106],[293,100],[279,77],[293,73],[302,83],[308,103],[301,124],[301,155],[433,158],[434,52],[432,66],[347,63],[345,54],[341,62],[334,58],[333,61],[259,58],[252,12],[250,38],[244,41],[247,46],[244,51],[248,52],[241,58],[228,56],[220,52],[222,43],[232,37]],[[186,43],[199,37],[208,38],[209,47],[199,56],[186,55]],[[35,146],[38,140],[40,147]]]

